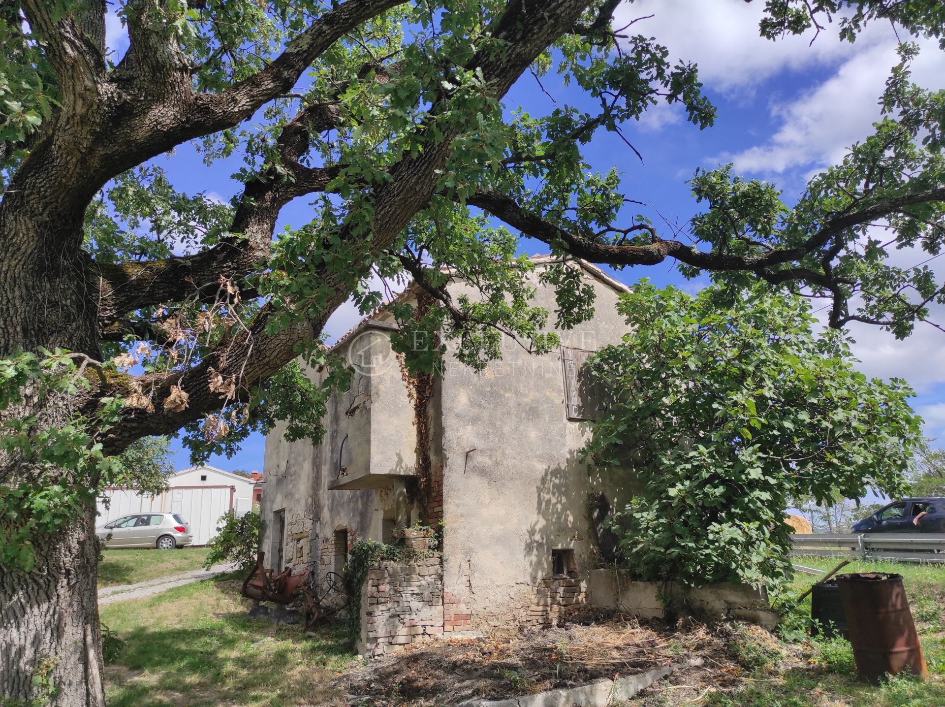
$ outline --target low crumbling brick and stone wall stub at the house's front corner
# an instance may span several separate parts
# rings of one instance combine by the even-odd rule
[[[361,594],[358,652],[378,658],[443,633],[443,574],[438,552],[377,560]]]

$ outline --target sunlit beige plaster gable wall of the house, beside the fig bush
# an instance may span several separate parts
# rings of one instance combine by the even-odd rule
[[[558,333],[565,346],[595,351],[618,342],[627,324],[618,293],[583,276],[595,316]],[[551,323],[554,291],[532,278]],[[454,297],[462,291],[455,285]],[[567,418],[560,353],[532,355],[508,338],[503,346],[503,359],[479,373],[448,362],[441,385],[443,590],[468,607],[472,629],[528,623],[553,549],[574,550],[583,577],[593,561],[588,493],[619,502],[631,482],[589,478],[579,461],[590,426]]]

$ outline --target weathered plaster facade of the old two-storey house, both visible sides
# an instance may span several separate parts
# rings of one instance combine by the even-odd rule
[[[335,350],[355,373],[330,402],[324,440],[289,443],[279,428],[266,440],[262,549],[273,566],[324,577],[340,570],[355,539],[388,542],[398,524],[422,515],[429,526],[443,521],[441,595],[427,613],[442,615],[444,632],[547,624],[582,603],[598,564],[589,492],[619,497],[615,482],[627,479],[592,478],[578,458],[593,417],[578,371],[626,332],[615,309],[626,287],[596,267],[572,267],[594,288],[595,315],[558,332],[554,353],[506,339],[502,360],[485,371],[448,358],[445,371],[418,382],[390,352],[387,315],[344,336]],[[530,277],[535,303],[553,313],[553,289],[538,272]],[[450,286],[454,297],[472,296],[462,282]]]

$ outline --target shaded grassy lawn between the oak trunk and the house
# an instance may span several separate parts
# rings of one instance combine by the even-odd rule
[[[110,707],[343,704],[326,686],[354,658],[338,637],[248,620],[248,608],[232,578],[102,607],[123,641],[106,650]]]

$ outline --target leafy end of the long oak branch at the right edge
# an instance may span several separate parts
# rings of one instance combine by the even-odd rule
[[[940,225],[945,201],[917,197],[945,181],[945,91],[930,92],[912,83],[909,63],[918,51],[915,44],[900,45],[901,62],[886,82],[880,99],[883,118],[874,124],[873,134],[854,144],[840,164],[809,181],[793,208],[783,204],[775,186],[743,180],[732,174],[731,165],[697,170],[690,182],[693,195],[708,210],[693,218],[696,238],[714,252],[747,258],[797,249],[802,253],[798,260],[772,264],[770,272],[762,273],[765,280],[791,282],[784,268],[804,268],[814,273],[807,281],[810,294],[839,304],[831,312],[834,327],[862,320],[900,338],[911,334],[916,322],[929,316],[930,304],[945,302],[945,286],[936,283],[931,267],[888,262],[893,248],[936,256],[945,244]],[[857,216],[883,211],[884,203],[897,201],[902,204],[880,219],[887,221],[884,228],[876,227],[874,217]],[[927,262],[927,256],[917,260]],[[699,267],[680,269],[687,277],[703,272]],[[756,274],[723,268],[711,277],[747,290]],[[851,311],[854,293],[860,303]]]

